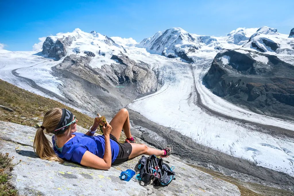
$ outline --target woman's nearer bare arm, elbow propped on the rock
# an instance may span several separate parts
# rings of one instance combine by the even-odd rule
[[[107,123],[107,122],[106,122]],[[110,132],[112,130],[111,125],[107,123],[106,127],[103,126],[104,139],[105,139],[105,151],[103,159],[94,155],[93,153],[86,151],[82,157],[81,165],[87,167],[93,167],[101,170],[108,170],[111,167],[111,148],[110,148]]]

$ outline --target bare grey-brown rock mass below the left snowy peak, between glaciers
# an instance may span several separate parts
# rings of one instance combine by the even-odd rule
[[[73,105],[90,112],[113,115],[113,108],[123,108],[141,94],[156,91],[162,81],[148,64],[134,62],[127,56],[113,55],[119,63],[89,66],[90,56],[71,54],[52,68],[60,78],[59,89]]]

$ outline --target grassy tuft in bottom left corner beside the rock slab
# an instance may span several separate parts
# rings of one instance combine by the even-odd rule
[[[10,172],[14,166],[12,163],[13,157],[8,153],[0,152],[0,196],[15,196],[18,195],[17,190],[9,183]]]

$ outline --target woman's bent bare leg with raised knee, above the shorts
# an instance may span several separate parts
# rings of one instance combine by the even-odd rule
[[[112,127],[111,134],[119,140],[121,136],[121,130],[125,133],[127,138],[131,138],[131,128],[128,110],[123,108],[118,111],[118,113],[113,117],[109,123]]]

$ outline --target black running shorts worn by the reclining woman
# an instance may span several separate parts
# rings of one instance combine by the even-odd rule
[[[132,145],[130,143],[118,142],[112,134],[109,134],[109,136],[110,136],[110,139],[115,141],[119,147],[118,155],[117,155],[116,159],[114,160],[114,162],[111,163],[111,165],[116,165],[116,164],[122,163],[124,161],[127,161],[128,157],[130,156],[130,154],[132,152]]]

